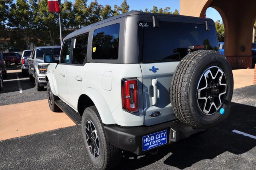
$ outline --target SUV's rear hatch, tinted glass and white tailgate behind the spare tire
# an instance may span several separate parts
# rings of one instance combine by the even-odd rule
[[[159,22],[159,27],[153,28],[150,21],[138,23],[144,125],[176,119],[169,96],[174,71],[189,46],[204,45],[218,51],[215,27],[209,27],[206,31],[205,24]]]

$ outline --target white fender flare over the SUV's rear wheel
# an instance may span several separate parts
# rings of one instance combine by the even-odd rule
[[[94,88],[87,88],[84,94],[92,100],[104,124],[116,124],[116,121],[114,120],[106,101],[99,92],[97,92]]]

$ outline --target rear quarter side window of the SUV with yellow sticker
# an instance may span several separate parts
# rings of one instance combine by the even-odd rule
[[[118,58],[119,29],[118,23],[94,30],[92,59],[115,60]]]

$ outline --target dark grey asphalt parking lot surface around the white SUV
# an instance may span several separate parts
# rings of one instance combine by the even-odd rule
[[[20,80],[20,88],[17,84]],[[22,73],[9,73],[0,105],[46,98]],[[218,126],[158,149],[158,154],[135,156],[124,152],[116,169],[252,170],[256,167],[256,86],[234,90],[231,114]],[[85,169],[94,167],[85,154],[76,126],[0,141],[0,169]]]

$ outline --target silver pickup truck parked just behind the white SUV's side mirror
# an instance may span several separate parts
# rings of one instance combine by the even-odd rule
[[[60,48],[61,46],[36,47],[32,50],[30,57],[27,58],[29,79],[35,81],[36,90],[43,90],[47,83],[45,80],[45,74],[47,73],[49,63],[44,63],[44,54],[52,54],[55,61],[58,62]]]

